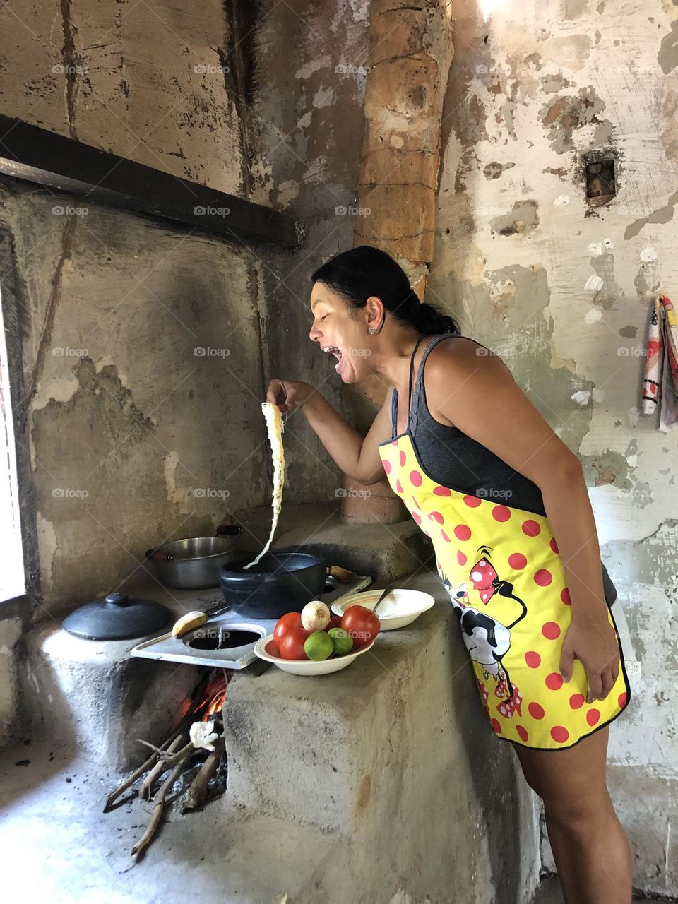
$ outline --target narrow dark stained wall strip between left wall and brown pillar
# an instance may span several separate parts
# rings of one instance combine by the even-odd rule
[[[347,417],[341,377],[308,338],[308,299],[313,270],[353,247],[369,7],[264,0],[253,42],[251,200],[297,213],[306,226],[300,249],[274,250],[259,264],[265,376],[310,382]],[[286,498],[334,502],[342,476],[301,411],[287,419],[285,438]]]

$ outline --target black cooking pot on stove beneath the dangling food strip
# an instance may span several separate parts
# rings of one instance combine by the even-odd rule
[[[268,552],[250,569],[252,559],[221,566],[221,592],[240,616],[279,618],[301,612],[311,599],[325,592],[325,560],[313,552]]]

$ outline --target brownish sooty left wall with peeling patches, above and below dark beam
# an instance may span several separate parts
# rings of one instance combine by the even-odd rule
[[[52,0],[5,5],[0,24],[3,113],[250,193],[250,5]],[[148,547],[268,503],[267,250],[9,178],[0,229],[44,617],[138,576]]]

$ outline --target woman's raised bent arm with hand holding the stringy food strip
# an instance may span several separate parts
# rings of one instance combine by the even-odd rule
[[[309,383],[272,380],[267,394],[283,414],[300,408],[336,465],[362,484],[376,484],[385,476],[378,445],[391,438],[391,398],[392,389],[363,437]]]

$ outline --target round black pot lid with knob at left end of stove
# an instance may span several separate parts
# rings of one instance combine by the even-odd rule
[[[129,640],[155,634],[168,625],[172,614],[154,599],[109,593],[75,609],[61,622],[69,634],[85,640]]]

